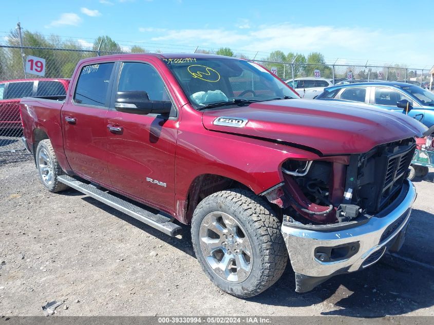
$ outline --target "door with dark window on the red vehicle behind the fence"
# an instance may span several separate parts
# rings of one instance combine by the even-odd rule
[[[34,95],[33,81],[16,81],[4,84],[0,101],[0,127],[21,128],[20,100]]]

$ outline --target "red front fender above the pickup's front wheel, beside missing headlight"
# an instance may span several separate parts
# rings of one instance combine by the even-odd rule
[[[180,131],[175,172],[178,214],[197,176],[227,177],[259,194],[284,180],[280,166],[289,158],[319,157],[310,151],[228,133],[206,129]]]

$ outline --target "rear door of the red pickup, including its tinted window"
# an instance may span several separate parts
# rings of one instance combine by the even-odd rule
[[[64,149],[74,173],[110,185],[107,169],[106,115],[115,74],[114,62],[80,67],[62,108]]]

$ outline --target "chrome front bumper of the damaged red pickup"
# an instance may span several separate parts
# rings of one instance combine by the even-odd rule
[[[404,191],[406,193],[403,193]],[[415,199],[414,185],[405,180],[399,196],[400,201],[391,204],[393,209],[386,215],[372,216],[367,222],[360,222],[360,225],[356,223],[353,227],[342,230],[342,224],[337,224],[317,231],[284,223],[281,232],[295,272],[296,291],[306,292],[334,275],[364,269],[380,260],[389,249],[398,251],[405,238],[411,205]],[[338,226],[341,230],[333,231]],[[390,227],[393,227],[392,231]],[[383,234],[386,228],[390,234],[385,237]],[[358,250],[349,258],[322,262],[315,257],[316,248],[350,243],[356,243]]]

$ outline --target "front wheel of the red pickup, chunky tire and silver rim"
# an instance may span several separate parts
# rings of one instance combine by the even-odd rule
[[[206,275],[236,297],[270,288],[288,261],[280,221],[267,202],[247,190],[203,199],[193,215],[192,241]]]

